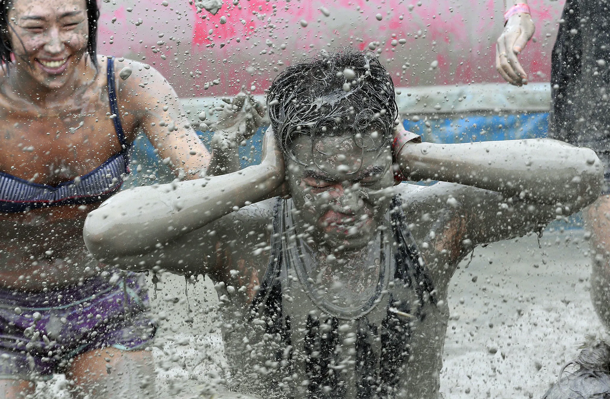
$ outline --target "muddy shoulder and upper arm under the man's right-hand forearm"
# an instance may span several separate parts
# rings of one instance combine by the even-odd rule
[[[556,215],[551,204],[527,204],[456,183],[400,184],[397,190],[441,297],[459,262],[476,245],[540,231]]]

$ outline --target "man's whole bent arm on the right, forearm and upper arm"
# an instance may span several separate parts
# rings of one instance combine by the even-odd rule
[[[435,196],[458,246],[523,235],[577,212],[595,201],[603,176],[593,151],[550,139],[407,143],[397,160],[412,180],[459,183],[420,194]]]

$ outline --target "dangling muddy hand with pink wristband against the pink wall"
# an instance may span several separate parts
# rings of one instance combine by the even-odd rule
[[[505,81],[515,86],[528,84],[528,74],[517,56],[534,35],[536,26],[529,14],[527,0],[505,0],[504,31],[496,41],[496,69]]]

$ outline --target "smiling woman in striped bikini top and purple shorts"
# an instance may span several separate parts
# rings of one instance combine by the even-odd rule
[[[160,73],[96,54],[98,17],[95,0],[0,1],[2,398],[57,372],[91,398],[154,391],[143,279],[93,261],[82,226],[120,189],[138,131],[179,178],[210,154]]]

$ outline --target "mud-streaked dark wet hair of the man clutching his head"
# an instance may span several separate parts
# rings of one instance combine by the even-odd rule
[[[300,134],[350,132],[365,151],[378,151],[389,145],[398,115],[392,77],[376,54],[349,47],[285,68],[267,106],[278,145],[291,157],[290,143]],[[371,139],[374,131],[380,135]]]

